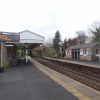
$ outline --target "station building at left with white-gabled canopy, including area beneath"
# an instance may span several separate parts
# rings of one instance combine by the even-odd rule
[[[19,59],[28,62],[31,50],[44,42],[44,37],[29,30],[14,32],[1,32],[0,34],[0,65],[14,64]]]

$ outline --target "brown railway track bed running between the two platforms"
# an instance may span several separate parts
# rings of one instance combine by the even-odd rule
[[[68,77],[71,77],[100,91],[100,73],[97,70],[91,71],[91,69],[87,68],[86,66],[84,66],[85,68],[82,70],[81,66],[80,68],[79,66],[77,68],[77,66],[73,64],[71,66],[71,64],[67,64],[65,62],[50,60],[46,58],[38,58],[36,60],[53,70],[56,70]]]

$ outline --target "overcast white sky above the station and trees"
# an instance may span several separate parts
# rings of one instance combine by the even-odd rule
[[[30,30],[46,39],[57,30],[62,39],[100,21],[100,0],[0,0],[0,31]]]

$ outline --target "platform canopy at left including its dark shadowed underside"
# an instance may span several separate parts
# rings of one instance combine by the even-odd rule
[[[5,41],[8,44],[15,44],[18,47],[25,47],[28,45],[29,48],[37,47],[41,44],[43,44],[45,38],[41,35],[38,35],[34,32],[31,32],[29,30],[21,31],[18,33],[14,32],[2,32],[0,35],[1,38],[3,38],[3,41]]]

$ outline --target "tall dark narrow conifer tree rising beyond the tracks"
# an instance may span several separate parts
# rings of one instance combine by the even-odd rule
[[[61,41],[60,32],[59,31],[56,31],[55,37],[53,39],[53,47],[54,47],[54,50],[56,52],[59,52],[59,50],[60,50],[60,44],[59,44],[60,41]]]

